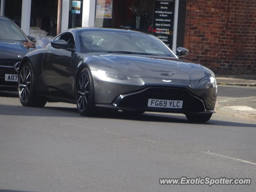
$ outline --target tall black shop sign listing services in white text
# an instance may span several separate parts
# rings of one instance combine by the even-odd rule
[[[172,47],[175,0],[155,0],[152,34]]]

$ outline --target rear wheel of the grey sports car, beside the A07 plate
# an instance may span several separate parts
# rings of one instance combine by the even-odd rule
[[[26,62],[20,69],[18,91],[23,106],[43,107],[47,102],[45,98],[36,95],[34,74],[29,62]]]

